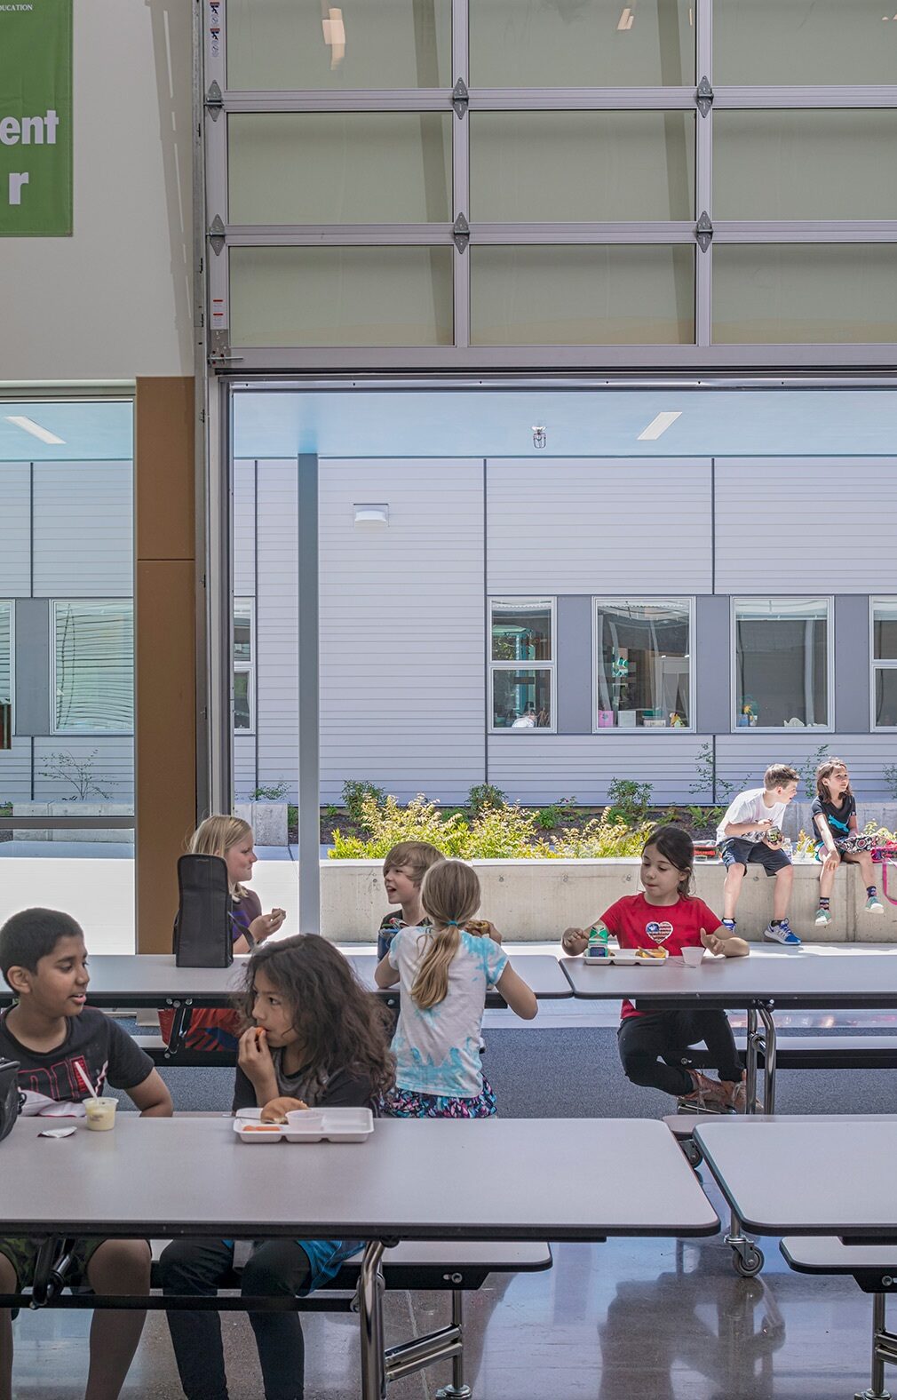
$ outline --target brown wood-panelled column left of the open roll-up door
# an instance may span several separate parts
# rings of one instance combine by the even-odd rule
[[[171,952],[196,825],[193,381],[139,378],[134,442],[137,952]]]

